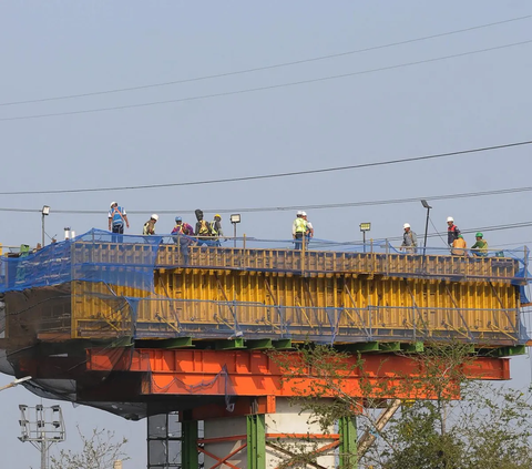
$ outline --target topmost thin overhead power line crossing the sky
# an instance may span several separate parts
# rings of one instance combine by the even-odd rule
[[[212,80],[212,79],[225,78],[225,77],[234,77],[234,75],[259,72],[259,71],[272,70],[272,69],[280,69],[280,68],[284,68],[284,67],[299,65],[299,64],[303,64],[303,63],[317,62],[317,61],[328,60],[328,59],[336,59],[336,58],[346,57],[346,55],[354,55],[354,54],[357,54],[357,53],[370,52],[370,51],[376,51],[376,50],[380,50],[380,49],[388,49],[388,48],[393,48],[393,47],[397,47],[397,45],[411,44],[413,42],[426,41],[426,40],[429,40],[429,39],[443,38],[446,35],[460,34],[462,32],[473,31],[473,30],[478,30],[478,29],[491,28],[491,27],[499,26],[499,24],[528,20],[530,18],[532,18],[532,14],[528,14],[528,16],[524,16],[524,17],[518,17],[518,18],[510,18],[508,20],[495,21],[495,22],[485,23],[485,24],[479,24],[479,26],[458,29],[458,30],[453,30],[453,31],[441,32],[441,33],[438,33],[438,34],[423,35],[423,37],[420,37],[420,38],[407,39],[405,41],[398,41],[398,42],[391,42],[391,43],[387,43],[387,44],[374,45],[374,47],[364,48],[364,49],[355,49],[355,50],[351,50],[351,51],[338,52],[338,53],[332,53],[332,54],[327,54],[327,55],[319,55],[319,57],[314,57],[314,58],[309,58],[309,59],[300,59],[300,60],[294,60],[294,61],[289,61],[289,62],[280,62],[280,63],[275,63],[275,64],[272,64],[272,65],[255,67],[255,68],[250,68],[250,69],[237,70],[237,71],[232,71],[232,72],[215,73],[215,74],[202,75],[202,77],[194,77],[194,78],[183,79],[183,80],[173,80],[173,81],[165,81],[165,82],[160,82],[160,83],[142,84],[142,85],[137,85],[137,86],[115,88],[115,89],[111,89],[111,90],[101,90],[101,91],[92,91],[92,92],[78,93],[78,94],[66,94],[66,95],[60,95],[60,96],[40,98],[40,99],[33,99],[33,100],[11,101],[11,102],[0,103],[0,106],[41,103],[41,102],[60,101],[60,100],[71,100],[71,99],[76,99],[76,98],[88,98],[88,96],[96,96],[96,95],[102,95],[102,94],[122,93],[122,92],[127,92],[127,91],[139,91],[139,90],[146,90],[146,89],[150,89],[150,88],[170,86],[170,85],[174,85],[174,84]]]

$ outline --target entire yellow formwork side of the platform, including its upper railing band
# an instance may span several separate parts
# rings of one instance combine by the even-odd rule
[[[123,264],[145,265],[153,246],[76,243],[73,256],[120,276]],[[247,330],[280,332],[289,324],[308,334],[336,327],[338,334],[369,329],[376,337],[405,330],[515,336],[512,259],[195,246],[190,265],[175,268],[181,262],[178,245],[158,246],[153,294],[134,284],[73,283],[72,336],[131,332],[132,309],[123,297],[141,298],[134,326],[153,336],[236,329],[236,322]]]

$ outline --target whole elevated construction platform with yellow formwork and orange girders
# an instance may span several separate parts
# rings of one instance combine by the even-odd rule
[[[267,350],[297,360],[297,344],[328,344],[361,356],[360,373],[379,386],[413,376],[409,357],[430,343],[469,344],[471,379],[509,379],[508,357],[525,349],[526,248],[468,257],[388,243],[313,241],[299,251],[290,241],[193,242],[93,230],[1,257],[0,370],[31,375],[24,385],[40,396],[130,419],[177,410],[190,429],[236,418],[228,440],[211,421],[202,448],[213,467],[244,468],[229,459],[252,449],[263,427],[266,440],[284,435],[264,416],[280,412],[288,428],[297,412],[286,399],[309,385],[286,385]],[[361,395],[357,374],[344,386]],[[211,448],[236,440],[241,449],[229,445],[225,459]],[[188,453],[191,441],[182,441]],[[342,440],[335,441],[330,448]],[[258,458],[256,441],[249,458]],[[183,467],[197,467],[187,460]]]

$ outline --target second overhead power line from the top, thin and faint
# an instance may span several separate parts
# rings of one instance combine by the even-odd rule
[[[173,99],[173,100],[151,101],[151,102],[147,102],[147,103],[123,104],[123,105],[115,105],[115,106],[109,106],[109,108],[85,109],[85,110],[79,110],[79,111],[64,111],[64,112],[52,112],[52,113],[43,113],[43,114],[30,114],[30,115],[20,115],[20,116],[11,116],[11,118],[1,118],[0,122],[24,121],[24,120],[44,119],[44,118],[57,118],[57,116],[60,116],[60,115],[91,114],[91,113],[98,113],[98,112],[120,111],[120,110],[125,110],[125,109],[150,108],[150,106],[162,105],[162,104],[173,104],[173,103],[181,103],[181,102],[187,102],[187,101],[198,101],[198,100],[207,100],[207,99],[213,99],[213,98],[232,96],[232,95],[236,95],[236,94],[255,93],[255,92],[258,92],[258,91],[276,90],[276,89],[289,88],[289,86],[298,86],[298,85],[301,85],[301,84],[318,83],[318,82],[338,80],[338,79],[348,78],[348,77],[356,77],[356,75],[382,72],[382,71],[387,71],[387,70],[396,70],[396,69],[401,69],[401,68],[407,68],[407,67],[420,65],[420,64],[423,64],[423,63],[438,62],[438,61],[448,60],[448,59],[456,59],[456,58],[459,58],[459,57],[473,55],[473,54],[478,54],[478,53],[484,53],[484,52],[490,52],[490,51],[495,51],[495,50],[501,50],[501,49],[507,49],[507,48],[513,48],[513,47],[516,47],[516,45],[524,45],[524,44],[529,44],[531,42],[532,42],[532,40],[512,42],[510,44],[497,45],[497,47],[487,48],[487,49],[478,49],[478,50],[474,50],[474,51],[461,52],[461,53],[456,53],[456,54],[451,54],[451,55],[437,57],[437,58],[432,58],[432,59],[417,60],[415,62],[400,63],[400,64],[397,64],[397,65],[388,65],[388,67],[381,67],[381,68],[378,68],[378,69],[362,70],[362,71],[350,72],[350,73],[341,73],[341,74],[338,74],[338,75],[320,77],[320,78],[309,79],[309,80],[298,80],[298,81],[286,82],[286,83],[270,84],[270,85],[266,85],[266,86],[248,88],[248,89],[235,90],[235,91],[225,91],[225,92],[221,92],[221,93],[202,94],[202,95],[197,95],[197,96],[177,98],[177,99]]]

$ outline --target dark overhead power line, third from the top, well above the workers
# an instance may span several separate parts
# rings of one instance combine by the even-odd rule
[[[493,146],[482,146],[482,147],[470,149],[470,150],[460,150],[460,151],[449,152],[449,153],[437,153],[437,154],[424,155],[424,156],[412,156],[412,157],[406,157],[400,160],[398,159],[398,160],[379,161],[375,163],[351,164],[348,166],[324,167],[320,170],[306,170],[306,171],[293,171],[293,172],[286,172],[286,173],[275,173],[275,174],[262,174],[262,175],[255,175],[255,176],[226,177],[226,179],[218,179],[218,180],[188,181],[188,182],[166,183],[166,184],[131,185],[131,186],[122,186],[122,187],[92,187],[92,188],[85,187],[85,188],[55,188],[55,190],[48,190],[48,191],[12,191],[12,192],[0,192],[0,195],[66,194],[66,193],[72,194],[72,193],[81,193],[81,192],[136,191],[136,190],[145,190],[145,188],[183,187],[183,186],[191,186],[191,185],[235,183],[235,182],[243,182],[243,181],[257,181],[257,180],[268,180],[268,179],[277,179],[277,177],[300,176],[300,175],[307,175],[307,174],[331,173],[336,171],[360,170],[364,167],[387,166],[390,164],[437,160],[437,159],[444,159],[444,157],[451,157],[451,156],[458,156],[458,155],[464,155],[464,154],[471,154],[471,153],[481,153],[481,152],[488,152],[493,150],[524,146],[530,144],[532,144],[532,140],[528,140],[523,142],[504,143],[501,145],[493,145]]]

